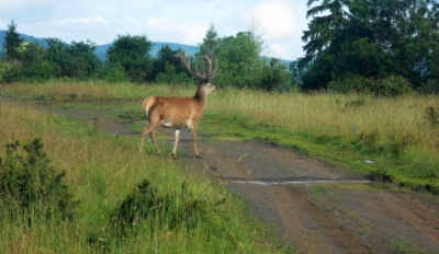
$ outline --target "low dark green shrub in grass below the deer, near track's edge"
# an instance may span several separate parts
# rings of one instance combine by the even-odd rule
[[[213,234],[227,234],[227,230],[218,223],[219,220],[211,218],[212,212],[226,217],[223,213],[226,209],[222,207],[224,201],[195,197],[188,189],[185,182],[181,184],[180,194],[160,196],[150,182],[145,180],[117,205],[110,220],[119,236],[128,232],[135,233],[135,229],[142,224],[147,224],[150,230],[159,227],[170,231],[184,229],[189,232],[203,227],[216,232],[211,232]],[[211,227],[206,227],[207,224]],[[229,236],[229,240],[234,241],[233,236]]]

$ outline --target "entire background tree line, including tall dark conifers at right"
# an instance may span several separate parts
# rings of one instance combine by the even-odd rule
[[[222,86],[264,91],[335,90],[398,95],[413,90],[439,92],[439,4],[436,0],[308,0],[308,27],[303,32],[305,56],[283,65],[260,57],[263,42],[254,30],[218,37],[207,30],[200,53],[213,54]],[[285,24],[289,25],[289,24]],[[3,81],[46,79],[101,79],[137,83],[193,82],[173,57],[181,49],[164,46],[149,54],[145,35],[117,35],[100,61],[92,42],[66,44],[57,38],[47,45],[24,42],[16,24],[9,25],[3,45],[20,65],[2,72]]]

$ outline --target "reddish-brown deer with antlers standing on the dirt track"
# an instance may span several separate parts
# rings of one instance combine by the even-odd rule
[[[212,69],[212,54],[204,56],[204,71],[200,73],[198,65],[195,71],[191,69],[190,57],[177,54],[176,58],[183,64],[188,72],[198,79],[198,90],[193,97],[177,97],[177,96],[149,96],[143,102],[143,109],[148,119],[148,125],[144,128],[140,135],[139,151],[144,149],[145,137],[149,134],[154,146],[157,149],[157,154],[161,157],[160,148],[156,141],[156,129],[159,126],[175,128],[175,145],[172,150],[173,159],[177,159],[177,146],[180,139],[180,129],[192,129],[193,148],[195,157],[201,159],[196,145],[196,128],[203,115],[203,109],[206,105],[207,94],[214,92],[216,86],[210,81],[219,74],[218,62],[215,59],[215,67]]]

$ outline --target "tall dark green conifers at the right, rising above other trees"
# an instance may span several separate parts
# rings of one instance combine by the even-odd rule
[[[316,2],[320,4],[312,7]],[[393,76],[408,80],[414,89],[437,91],[436,1],[309,0],[307,4],[313,20],[302,37],[303,89],[326,89],[349,76],[374,80]]]

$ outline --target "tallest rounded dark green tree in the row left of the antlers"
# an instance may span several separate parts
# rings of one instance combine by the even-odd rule
[[[134,82],[150,80],[153,43],[145,35],[117,35],[106,50],[110,62],[120,62]]]

